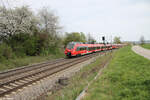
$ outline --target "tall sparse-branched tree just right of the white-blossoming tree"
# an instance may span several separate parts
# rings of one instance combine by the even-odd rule
[[[58,16],[51,9],[43,8],[39,11],[39,28],[45,34],[49,35],[49,45],[54,47],[60,42],[58,32],[62,27],[59,26]]]

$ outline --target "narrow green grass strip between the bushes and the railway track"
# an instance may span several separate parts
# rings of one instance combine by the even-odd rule
[[[60,52],[58,54],[51,54],[49,56],[26,56],[23,58],[4,60],[4,61],[0,61],[0,71],[26,66],[34,63],[40,63],[43,61],[57,59],[61,57],[64,57],[63,52]]]

